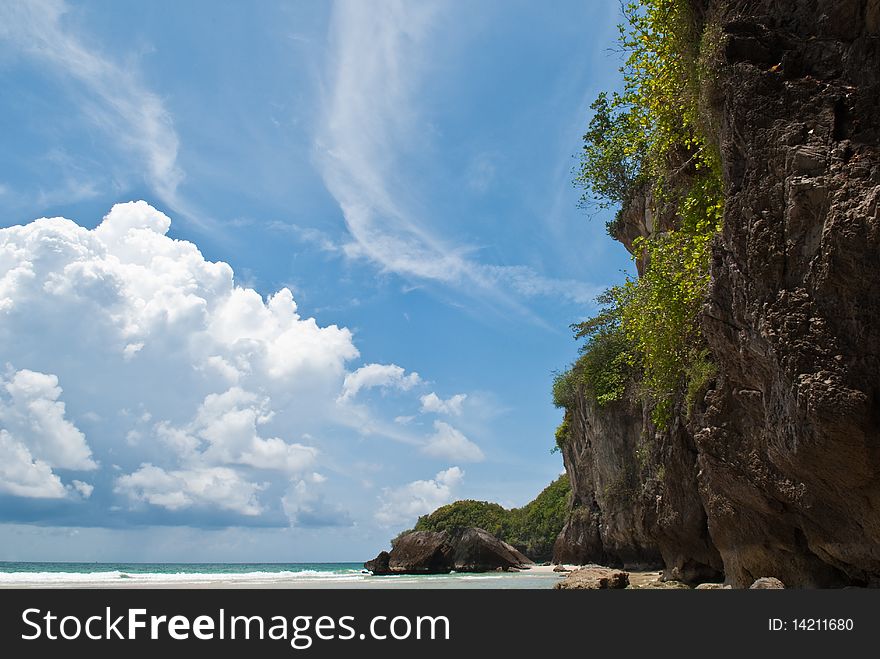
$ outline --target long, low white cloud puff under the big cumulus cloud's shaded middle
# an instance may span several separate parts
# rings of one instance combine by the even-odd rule
[[[168,510],[216,507],[248,516],[262,512],[257,501],[261,486],[227,467],[166,471],[147,463],[116,479],[114,489],[135,501]]]

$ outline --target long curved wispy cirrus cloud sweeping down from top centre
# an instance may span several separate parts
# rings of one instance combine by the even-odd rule
[[[339,0],[331,21],[331,64],[315,140],[328,190],[342,209],[350,258],[403,277],[430,280],[525,310],[535,297],[591,302],[599,289],[546,277],[530,266],[487,264],[420,211],[412,161],[424,146],[420,98],[432,30],[443,6],[399,0]],[[485,167],[483,168],[485,169]],[[480,174],[481,180],[487,176]]]

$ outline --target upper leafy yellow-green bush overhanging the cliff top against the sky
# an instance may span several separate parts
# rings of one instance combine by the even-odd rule
[[[712,167],[717,155],[703,139],[699,102],[712,67],[687,0],[643,0],[623,6],[618,43],[625,53],[623,90],[602,92],[593,116],[575,185],[582,205],[625,206],[635,186],[653,181],[662,192],[679,169]],[[673,179],[670,181],[669,179]],[[614,235],[614,225],[609,223]]]

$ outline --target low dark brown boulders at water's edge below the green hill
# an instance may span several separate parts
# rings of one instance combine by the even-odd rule
[[[532,561],[483,529],[413,531],[398,538],[391,552],[364,563],[374,575],[444,574],[522,569]]]

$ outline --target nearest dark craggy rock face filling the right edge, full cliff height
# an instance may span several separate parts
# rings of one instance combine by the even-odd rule
[[[696,433],[709,530],[736,585],[872,583],[880,3],[748,5],[724,18],[715,108],[726,208],[704,333],[721,376]]]

